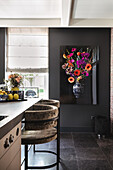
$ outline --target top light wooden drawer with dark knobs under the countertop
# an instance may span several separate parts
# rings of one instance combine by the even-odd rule
[[[13,142],[9,142],[10,136],[13,136]],[[1,140],[0,140],[0,159],[1,157],[10,149],[10,147],[15,143],[15,141],[19,138],[21,135],[21,123],[16,125],[10,132],[8,132]],[[4,147],[5,141],[8,141],[9,146]]]

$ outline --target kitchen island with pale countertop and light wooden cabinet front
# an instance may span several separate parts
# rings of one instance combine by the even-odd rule
[[[21,169],[21,120],[39,98],[0,103],[0,169]]]

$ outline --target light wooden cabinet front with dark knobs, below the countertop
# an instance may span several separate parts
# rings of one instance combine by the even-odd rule
[[[0,169],[21,169],[21,123],[0,140]]]

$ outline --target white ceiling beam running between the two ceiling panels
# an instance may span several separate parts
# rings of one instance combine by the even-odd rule
[[[62,0],[61,26],[69,26],[71,18],[72,0]]]

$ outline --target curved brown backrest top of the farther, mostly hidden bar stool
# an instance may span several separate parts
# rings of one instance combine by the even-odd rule
[[[49,99],[49,100],[44,100],[44,99],[42,99],[42,100],[40,100],[39,102],[38,102],[38,104],[47,104],[47,105],[53,105],[53,106],[56,106],[56,107],[60,107],[60,102],[59,102],[59,100],[54,100],[54,99]]]

